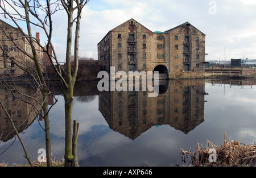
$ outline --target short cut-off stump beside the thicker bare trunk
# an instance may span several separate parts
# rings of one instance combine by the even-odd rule
[[[73,137],[72,137],[72,155],[74,156],[73,166],[78,166],[77,162],[77,139],[79,135],[80,124],[77,121],[73,121]]]

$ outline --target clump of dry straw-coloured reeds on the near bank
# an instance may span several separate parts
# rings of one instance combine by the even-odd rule
[[[209,140],[206,147],[197,145],[196,152],[180,150],[183,157],[191,155],[191,164],[194,166],[256,166],[256,144],[245,145],[233,140],[226,142],[224,135],[224,143],[220,147]],[[212,148],[216,155],[212,154]],[[216,159],[212,159],[212,156],[216,156]]]

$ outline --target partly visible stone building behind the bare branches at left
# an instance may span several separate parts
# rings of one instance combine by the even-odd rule
[[[36,33],[36,40],[40,42],[39,33]],[[34,45],[37,51],[38,59],[43,65],[44,53],[39,44],[34,41]],[[24,74],[24,71],[18,67],[24,67],[26,69],[34,67],[32,61],[32,49],[27,39],[24,38],[22,32],[10,24],[0,20],[0,74],[2,76],[9,76],[10,73],[13,77]],[[25,55],[24,53],[27,53]],[[15,63],[10,60],[13,57]]]

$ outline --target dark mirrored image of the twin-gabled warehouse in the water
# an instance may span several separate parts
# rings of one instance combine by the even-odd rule
[[[160,80],[159,95],[148,91],[103,91],[99,110],[110,129],[135,139],[152,126],[170,125],[188,134],[204,122],[204,80]]]

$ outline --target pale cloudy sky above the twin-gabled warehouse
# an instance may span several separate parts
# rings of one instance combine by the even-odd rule
[[[80,56],[97,59],[97,43],[131,18],[151,31],[191,23],[206,35],[206,60],[222,61],[225,54],[226,61],[256,59],[255,0],[90,0],[82,12]],[[53,19],[53,42],[60,61],[64,61],[66,21],[64,11]]]

